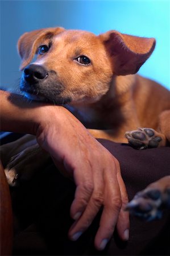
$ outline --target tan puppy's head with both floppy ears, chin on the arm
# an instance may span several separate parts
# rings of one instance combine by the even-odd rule
[[[28,98],[55,104],[96,102],[113,76],[138,72],[154,47],[153,38],[114,30],[99,36],[61,27],[27,32],[18,41],[20,89]]]

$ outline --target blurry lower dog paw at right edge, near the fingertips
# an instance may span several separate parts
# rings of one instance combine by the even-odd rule
[[[166,176],[136,193],[134,199],[126,206],[126,210],[132,215],[146,221],[161,218],[165,208],[170,209],[170,176]]]

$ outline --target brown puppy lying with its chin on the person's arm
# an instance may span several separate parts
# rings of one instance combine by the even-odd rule
[[[170,92],[135,75],[154,48],[154,38],[114,30],[99,36],[60,27],[27,32],[18,42],[20,69],[24,69],[20,89],[31,100],[65,105],[96,138],[114,142],[127,138],[138,149],[165,146],[170,142]],[[35,54],[36,61],[30,64]],[[28,137],[14,143],[26,141],[32,157],[42,154]],[[4,164],[11,184],[20,172],[16,162],[21,169],[26,165],[20,151]],[[157,188],[164,193],[168,185],[167,178]]]

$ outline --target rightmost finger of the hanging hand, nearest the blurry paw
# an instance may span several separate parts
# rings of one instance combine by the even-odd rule
[[[125,212],[125,207],[128,203],[128,196],[127,196],[125,183],[123,182],[123,179],[121,176],[121,172],[117,174],[117,179],[119,183],[119,188],[121,190],[121,198],[122,198],[122,208],[118,217],[117,231],[118,231],[119,237],[121,237],[122,240],[127,241],[129,238],[130,220],[129,220],[129,213]]]

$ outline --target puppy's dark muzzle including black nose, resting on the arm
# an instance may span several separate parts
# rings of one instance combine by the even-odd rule
[[[61,105],[71,101],[70,97],[62,95],[64,85],[59,81],[57,73],[47,71],[42,65],[30,64],[24,69],[20,90],[30,100]]]

